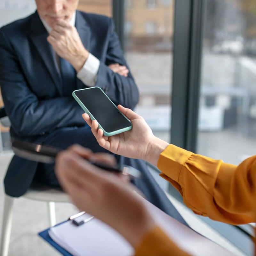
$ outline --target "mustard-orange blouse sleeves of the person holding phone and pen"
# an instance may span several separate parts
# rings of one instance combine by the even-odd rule
[[[169,145],[157,167],[183,196],[196,214],[238,225],[256,222],[256,156],[238,166]],[[135,255],[188,255],[156,227],[137,248]]]

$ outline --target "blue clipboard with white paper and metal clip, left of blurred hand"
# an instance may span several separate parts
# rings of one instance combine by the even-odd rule
[[[88,216],[89,215],[89,216]],[[86,213],[39,233],[63,255],[132,256],[134,249],[115,229]],[[81,222],[84,222],[80,224]]]

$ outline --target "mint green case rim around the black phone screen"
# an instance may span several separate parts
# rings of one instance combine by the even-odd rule
[[[92,120],[96,120],[96,119],[94,118],[94,116],[92,116],[92,114],[89,112],[89,110],[84,106],[84,104],[82,103],[82,101],[79,100],[79,98],[76,96],[75,92],[77,92],[77,91],[82,91],[82,90],[90,90],[90,89],[95,88],[95,87],[97,87],[97,86],[94,86],[94,87],[91,87],[91,88],[80,89],[80,90],[76,90],[76,91],[72,92],[72,96],[75,98],[75,100],[76,100],[77,103],[80,105],[80,107],[83,108],[84,112],[87,113],[87,114],[91,117]],[[97,88],[99,88],[99,89],[102,91],[102,89],[101,89],[100,87],[97,87]],[[103,91],[102,91],[102,92],[103,92]],[[103,93],[106,95],[105,92],[103,92]],[[108,98],[107,95],[106,95],[106,97]],[[109,98],[108,98],[108,99],[109,99]],[[110,99],[109,99],[109,100],[110,100]],[[116,107],[116,105],[112,102],[112,100],[110,100],[110,102]],[[118,108],[117,108],[117,109],[118,109]],[[104,110],[102,109],[102,111],[104,111]],[[118,111],[124,116],[124,114],[123,114],[119,109],[118,109]],[[124,117],[131,123],[131,121],[130,121],[126,116],[124,116]],[[123,129],[119,129],[119,130],[116,130],[116,131],[113,131],[113,132],[106,132],[106,131],[102,128],[102,126],[101,126],[100,124],[99,124],[99,128],[103,130],[103,134],[104,134],[105,136],[108,136],[108,137],[109,137],[109,136],[116,135],[116,134],[121,133],[121,132],[126,132],[126,131],[131,130],[131,129],[132,129],[132,123],[131,123],[131,126],[128,126],[128,127],[125,127],[125,128],[123,128]]]

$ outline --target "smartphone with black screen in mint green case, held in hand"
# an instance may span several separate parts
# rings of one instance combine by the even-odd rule
[[[132,129],[131,121],[124,116],[100,87],[76,90],[75,100],[92,120],[97,120],[99,128],[106,136],[112,136]]]

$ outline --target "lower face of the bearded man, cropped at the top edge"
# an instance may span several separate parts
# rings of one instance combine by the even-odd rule
[[[75,12],[79,0],[36,0],[40,17],[53,27],[58,21],[69,21]]]

